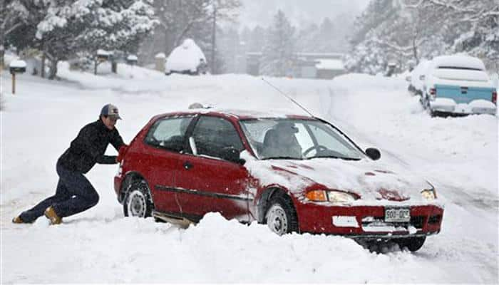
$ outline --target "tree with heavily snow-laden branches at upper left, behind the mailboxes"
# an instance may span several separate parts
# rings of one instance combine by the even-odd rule
[[[49,78],[53,78],[57,62],[76,52],[136,51],[138,41],[154,24],[147,0],[53,0],[37,25],[36,38],[43,41],[43,51],[51,61]]]

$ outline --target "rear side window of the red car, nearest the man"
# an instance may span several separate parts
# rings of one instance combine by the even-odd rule
[[[164,118],[158,120],[145,136],[145,143],[154,147],[180,152],[185,141],[185,132],[192,117]]]

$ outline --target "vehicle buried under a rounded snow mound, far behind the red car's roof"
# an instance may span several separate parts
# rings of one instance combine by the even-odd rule
[[[170,53],[166,60],[165,69],[167,75],[171,73],[206,74],[206,57],[201,48],[192,39],[187,38],[182,45]]]

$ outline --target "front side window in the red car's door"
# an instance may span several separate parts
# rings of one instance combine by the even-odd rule
[[[244,146],[232,123],[224,118],[202,116],[192,133],[197,154],[222,157],[222,150],[233,147],[241,151]]]

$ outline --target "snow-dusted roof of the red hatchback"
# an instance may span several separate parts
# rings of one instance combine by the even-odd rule
[[[217,109],[217,108],[200,108],[200,109],[189,109],[189,110],[179,110],[177,112],[163,113],[156,115],[154,118],[162,118],[166,116],[175,115],[218,115],[226,118],[235,118],[236,120],[250,120],[250,119],[262,119],[262,118],[293,118],[293,119],[304,119],[311,120],[314,117],[310,115],[291,113],[287,111],[264,111],[264,110],[238,110],[238,109]]]

